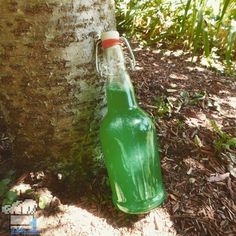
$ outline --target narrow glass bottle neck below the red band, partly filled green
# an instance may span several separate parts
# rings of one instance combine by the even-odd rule
[[[104,49],[107,74],[107,103],[109,112],[121,112],[137,107],[134,90],[125,66],[120,45]]]

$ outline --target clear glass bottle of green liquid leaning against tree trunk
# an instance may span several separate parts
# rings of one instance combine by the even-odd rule
[[[165,199],[156,130],[137,104],[117,31],[102,34],[108,111],[100,140],[115,206],[141,214]]]

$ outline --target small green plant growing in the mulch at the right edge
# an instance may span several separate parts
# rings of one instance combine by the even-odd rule
[[[218,138],[214,141],[216,151],[222,152],[223,150],[236,148],[236,137],[223,132],[214,120],[211,120],[210,122],[214,132],[218,135]]]

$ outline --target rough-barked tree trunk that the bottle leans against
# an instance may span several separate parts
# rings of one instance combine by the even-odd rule
[[[91,160],[104,110],[95,37],[115,28],[113,0],[0,5],[0,120],[18,167]]]

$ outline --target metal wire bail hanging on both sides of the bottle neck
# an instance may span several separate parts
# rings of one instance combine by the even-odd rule
[[[132,48],[130,47],[129,42],[125,37],[120,37],[120,40],[123,41],[125,43],[126,47],[128,48],[130,57],[125,56],[125,60],[128,62],[128,66],[127,66],[128,69],[133,71],[135,69],[136,60],[135,60]],[[100,74],[100,76],[106,76],[106,75],[108,75],[106,73],[106,71],[107,71],[106,67],[105,67],[101,57],[99,57],[99,47],[101,46],[101,44],[102,44],[102,40],[98,39],[96,42],[96,48],[95,48],[96,70],[97,70],[97,73]]]

